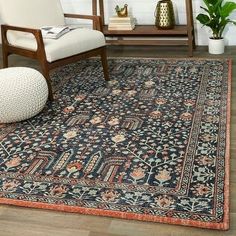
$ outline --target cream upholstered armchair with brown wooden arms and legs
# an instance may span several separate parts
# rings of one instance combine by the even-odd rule
[[[104,77],[109,80],[105,38],[99,16],[64,14],[60,0],[0,0],[3,67],[8,56],[37,59],[53,99],[49,71],[58,66],[100,55]],[[89,19],[94,29],[77,28],[58,39],[45,39],[40,28],[65,25],[65,17]]]

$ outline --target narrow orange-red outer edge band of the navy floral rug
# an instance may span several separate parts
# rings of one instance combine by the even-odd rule
[[[137,60],[222,60],[222,58],[132,58],[132,57],[110,57],[109,59],[137,59]],[[78,206],[67,206],[67,205],[52,205],[48,203],[39,203],[39,202],[28,202],[24,200],[13,200],[0,197],[1,204],[8,204],[13,206],[20,207],[29,207],[37,208],[43,210],[55,210],[71,213],[81,213],[85,215],[97,215],[97,216],[107,216],[115,217],[121,219],[131,219],[131,220],[141,220],[141,221],[150,221],[150,222],[159,222],[167,223],[173,225],[182,225],[182,226],[193,226],[198,228],[207,228],[214,230],[228,230],[229,229],[229,180],[230,180],[230,120],[231,120],[231,94],[232,94],[232,59],[223,58],[228,62],[228,95],[227,95],[227,124],[226,124],[226,152],[225,152],[225,182],[224,182],[224,218],[222,223],[207,223],[199,222],[197,220],[181,220],[173,219],[171,217],[161,217],[161,216],[150,216],[147,214],[137,214],[137,213],[128,213],[128,212],[116,212],[111,210],[102,210],[102,209],[91,209]]]

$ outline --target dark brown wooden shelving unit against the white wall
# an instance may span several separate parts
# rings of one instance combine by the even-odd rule
[[[184,0],[182,0],[184,1]],[[192,0],[185,0],[186,25],[176,25],[174,29],[160,30],[155,25],[136,25],[134,30],[108,30],[104,24],[104,3],[103,0],[92,0],[93,14],[98,14],[98,5],[102,18],[103,33],[107,37],[107,44],[111,45],[185,45],[188,46],[189,56],[193,56],[195,48],[194,25],[192,13]],[[108,39],[109,37],[109,39]],[[114,39],[112,39],[114,37]],[[128,37],[129,39],[125,39]],[[142,37],[144,39],[138,39]],[[168,39],[163,39],[168,37]]]

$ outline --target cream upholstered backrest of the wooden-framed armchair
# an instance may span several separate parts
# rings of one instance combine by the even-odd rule
[[[65,24],[60,0],[0,0],[0,14],[4,24],[13,26]]]

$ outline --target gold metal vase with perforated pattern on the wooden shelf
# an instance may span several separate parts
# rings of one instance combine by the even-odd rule
[[[161,0],[157,3],[156,27],[159,29],[173,29],[175,26],[175,14],[171,0]]]

